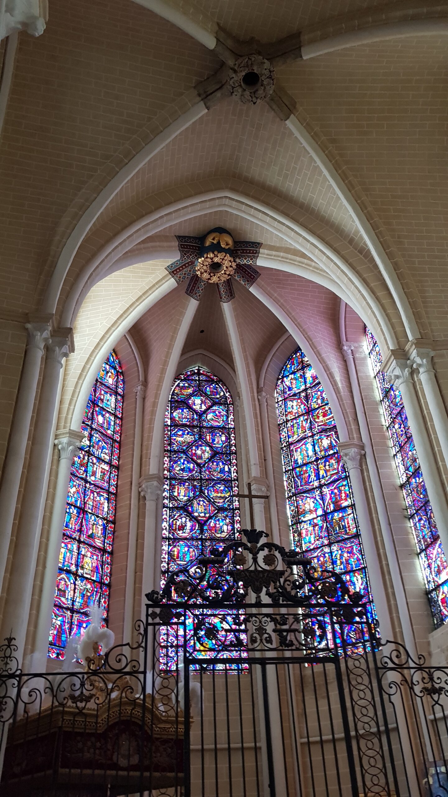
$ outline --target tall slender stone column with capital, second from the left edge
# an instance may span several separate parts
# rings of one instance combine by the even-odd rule
[[[47,346],[41,395],[37,406],[36,424],[29,456],[26,494],[23,501],[14,557],[3,612],[2,634],[5,638],[12,629],[18,646],[18,660],[22,662],[29,605],[33,591],[37,551],[40,540],[41,502],[44,500],[46,465],[51,445],[53,418],[62,363],[73,351],[71,329],[59,330]]]

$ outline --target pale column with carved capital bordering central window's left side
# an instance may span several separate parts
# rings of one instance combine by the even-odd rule
[[[160,548],[158,537],[162,530],[157,528],[157,502],[162,494],[163,479],[159,473],[151,473],[140,479],[140,493],[145,497],[145,520],[144,520],[144,545],[143,545],[143,579],[142,579],[142,618],[145,614],[145,595],[151,590],[159,587],[155,583],[155,552]],[[158,533],[159,532],[159,533]]]

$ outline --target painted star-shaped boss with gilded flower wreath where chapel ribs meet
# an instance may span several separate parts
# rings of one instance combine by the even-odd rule
[[[195,235],[176,235],[179,259],[167,265],[167,271],[178,285],[188,280],[187,296],[199,301],[206,282],[218,288],[222,302],[234,299],[231,277],[251,288],[260,276],[257,265],[261,243],[234,241],[229,230],[214,227],[202,238]]]

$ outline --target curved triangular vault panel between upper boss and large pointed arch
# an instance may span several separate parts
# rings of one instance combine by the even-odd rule
[[[354,249],[366,253],[355,222],[317,163],[271,109],[247,108],[223,100],[177,135],[149,160],[112,198],[96,220],[126,211],[126,218],[148,212],[145,198],[163,192],[166,203],[183,197],[184,184],[198,193],[224,187],[230,179],[256,190],[260,202],[269,195],[292,202],[334,230]],[[191,191],[190,191],[191,193]]]

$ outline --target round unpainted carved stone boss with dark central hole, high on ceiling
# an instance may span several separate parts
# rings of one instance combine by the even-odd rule
[[[275,85],[275,71],[261,55],[238,58],[229,70],[227,86],[239,102],[256,105],[267,100]]]

